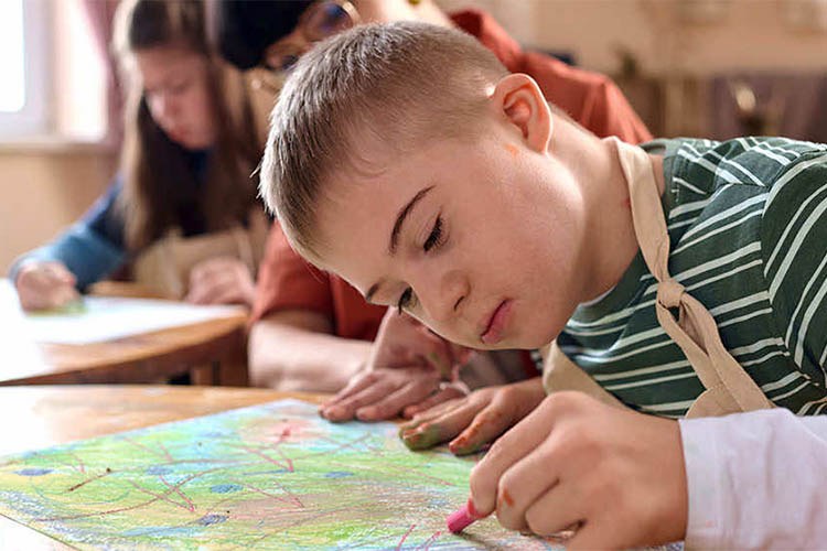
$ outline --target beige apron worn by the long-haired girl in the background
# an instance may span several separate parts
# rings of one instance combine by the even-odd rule
[[[254,207],[247,228],[240,225],[223,231],[182,237],[176,228],[153,242],[132,263],[132,278],[165,299],[186,295],[190,270],[203,260],[218,257],[240,259],[256,279],[265,251],[269,224],[264,209]]]

